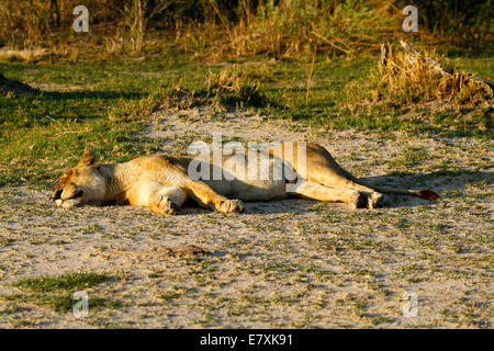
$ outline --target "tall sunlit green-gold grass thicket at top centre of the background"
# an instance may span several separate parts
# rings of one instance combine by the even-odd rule
[[[348,55],[379,50],[379,41],[398,34],[398,12],[391,2],[324,0],[240,1],[238,21],[228,21],[211,0],[217,22],[184,24],[177,43],[194,56],[276,58],[319,53]],[[214,43],[211,45],[211,43]]]

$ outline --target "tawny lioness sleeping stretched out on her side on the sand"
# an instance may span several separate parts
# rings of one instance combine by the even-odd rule
[[[299,155],[297,149],[302,144],[281,143],[280,158],[283,162],[288,162],[289,145],[293,150],[292,155]],[[203,207],[234,213],[244,210],[240,201],[270,201],[288,196],[344,202],[351,208],[378,207],[382,205],[382,193],[414,195],[427,200],[439,197],[431,190],[367,185],[339,167],[322,146],[312,143],[303,143],[303,146],[306,157],[305,181],[300,184],[293,184],[293,179],[285,174],[281,179],[193,180],[188,174],[193,157],[143,156],[124,163],[97,165],[93,151],[85,150],[79,163],[61,174],[53,199],[64,208],[85,204],[131,204],[148,206],[154,213],[165,215],[175,214],[187,199],[194,200]],[[248,155],[243,157],[247,159]],[[224,170],[228,158],[222,156],[218,162],[211,161],[207,166]],[[273,159],[268,163],[271,168]],[[296,159],[290,161],[293,170],[300,173]],[[254,165],[258,166],[256,162]],[[228,169],[234,176],[238,171]],[[294,185],[290,192],[287,190],[289,183]]]

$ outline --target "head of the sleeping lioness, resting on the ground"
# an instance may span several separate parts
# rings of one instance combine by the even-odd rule
[[[105,181],[96,166],[92,150],[85,150],[82,159],[65,171],[53,192],[57,206],[69,208],[88,203],[100,204],[104,199]]]

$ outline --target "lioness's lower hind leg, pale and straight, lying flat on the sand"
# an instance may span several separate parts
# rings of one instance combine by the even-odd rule
[[[352,210],[367,206],[367,196],[355,189],[334,189],[318,183],[305,182],[295,189],[295,194],[324,202],[343,202]]]

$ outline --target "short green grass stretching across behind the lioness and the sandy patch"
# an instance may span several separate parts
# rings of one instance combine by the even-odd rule
[[[54,90],[36,95],[0,94],[0,186],[26,183],[50,188],[64,168],[77,163],[86,147],[96,149],[102,161],[124,161],[157,151],[158,140],[137,135],[149,114],[173,103],[178,86],[198,97],[206,95],[207,72],[224,69],[223,64],[192,61],[170,47],[164,54],[148,53],[142,60],[94,56],[88,54],[91,59],[78,63],[0,63],[5,77],[50,84]],[[382,103],[366,107],[366,82],[377,69],[377,60],[369,56],[317,57],[307,94],[308,61],[272,63],[256,56],[249,59],[247,75],[256,84],[246,84],[246,90],[234,94],[223,93],[218,100],[227,104],[245,100],[269,118],[290,118],[326,129],[492,136],[492,111],[478,111],[469,123],[439,113],[430,116],[430,123],[408,116],[411,106]],[[494,77],[490,58],[456,57],[453,63]]]

